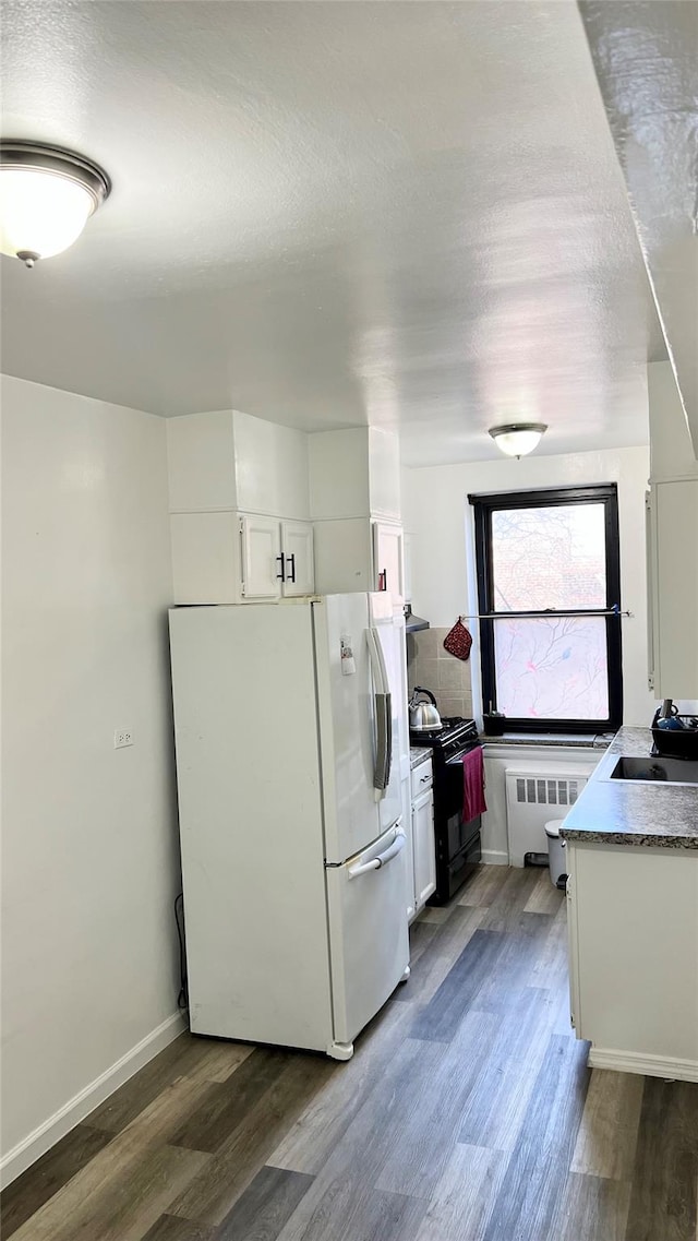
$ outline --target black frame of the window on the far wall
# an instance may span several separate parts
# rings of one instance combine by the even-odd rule
[[[485,495],[467,496],[475,519],[475,555],[477,570],[477,601],[480,619],[480,659],[482,670],[482,700],[497,706],[497,678],[495,668],[495,624],[488,614],[526,618],[531,612],[497,612],[492,607],[495,598],[492,580],[492,513],[500,509],[554,508],[564,504],[604,504],[605,547],[606,547],[606,609],[616,607],[620,613],[620,539],[617,513],[617,486],[604,483],[594,486],[539,488],[527,491],[496,491]],[[531,609],[539,612],[541,609]],[[546,609],[547,611],[547,609]],[[603,608],[579,608],[574,612],[584,616],[599,616]],[[550,609],[550,616],[563,614],[565,609]],[[611,732],[622,724],[622,639],[620,616],[605,617],[606,622],[606,659],[609,680],[609,716],[606,720],[547,720],[547,719],[510,719],[507,732],[568,732],[596,733]]]

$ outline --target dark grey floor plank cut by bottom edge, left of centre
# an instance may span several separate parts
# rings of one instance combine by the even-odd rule
[[[216,1231],[216,1241],[278,1241],[312,1176],[262,1168]]]

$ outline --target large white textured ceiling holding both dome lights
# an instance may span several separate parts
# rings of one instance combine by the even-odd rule
[[[5,137],[102,163],[2,258],[4,370],[162,414],[400,426],[408,464],[647,437],[663,355],[572,0],[10,2]]]

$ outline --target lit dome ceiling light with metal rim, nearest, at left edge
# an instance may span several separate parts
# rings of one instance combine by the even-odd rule
[[[107,174],[74,151],[0,141],[0,251],[27,267],[60,254],[110,189]]]

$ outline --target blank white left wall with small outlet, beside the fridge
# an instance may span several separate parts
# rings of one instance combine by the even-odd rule
[[[43,1132],[51,1117],[176,1011],[179,850],[165,423],[9,377],[1,402],[12,1174],[81,1118],[68,1108]],[[115,751],[126,726],[135,743]]]

